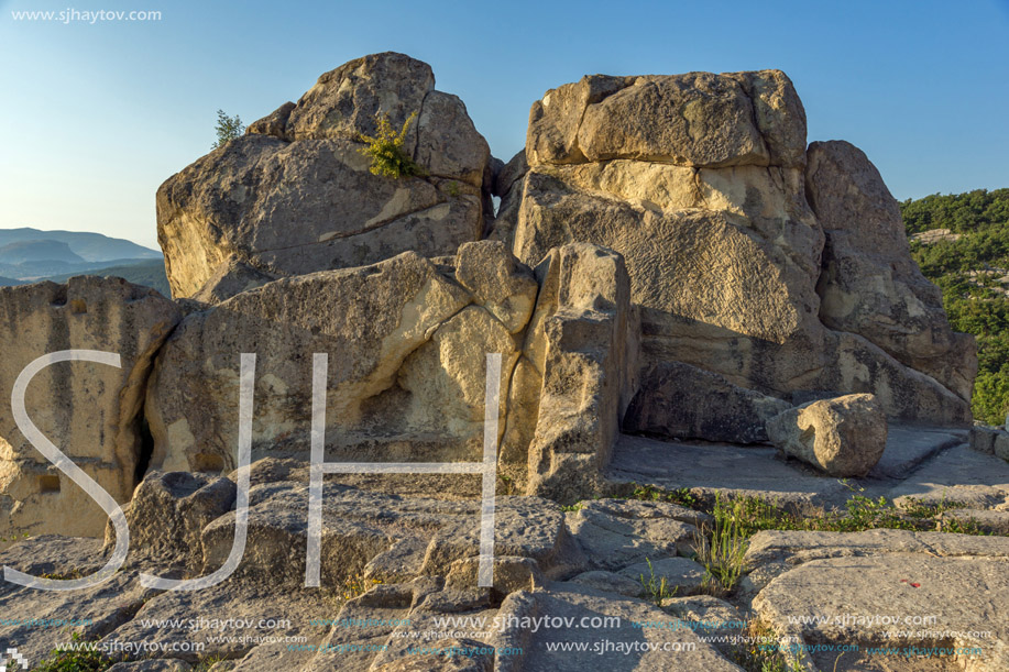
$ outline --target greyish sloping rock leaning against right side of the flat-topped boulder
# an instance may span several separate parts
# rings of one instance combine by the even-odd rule
[[[974,338],[950,328],[942,294],[911,260],[897,200],[876,166],[849,143],[814,142],[807,192],[826,233],[823,322],[865,337],[969,400]]]

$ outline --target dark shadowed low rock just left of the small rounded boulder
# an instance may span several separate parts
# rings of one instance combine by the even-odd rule
[[[654,364],[624,417],[624,431],[730,443],[767,441],[765,422],[790,405],[682,362]]]

